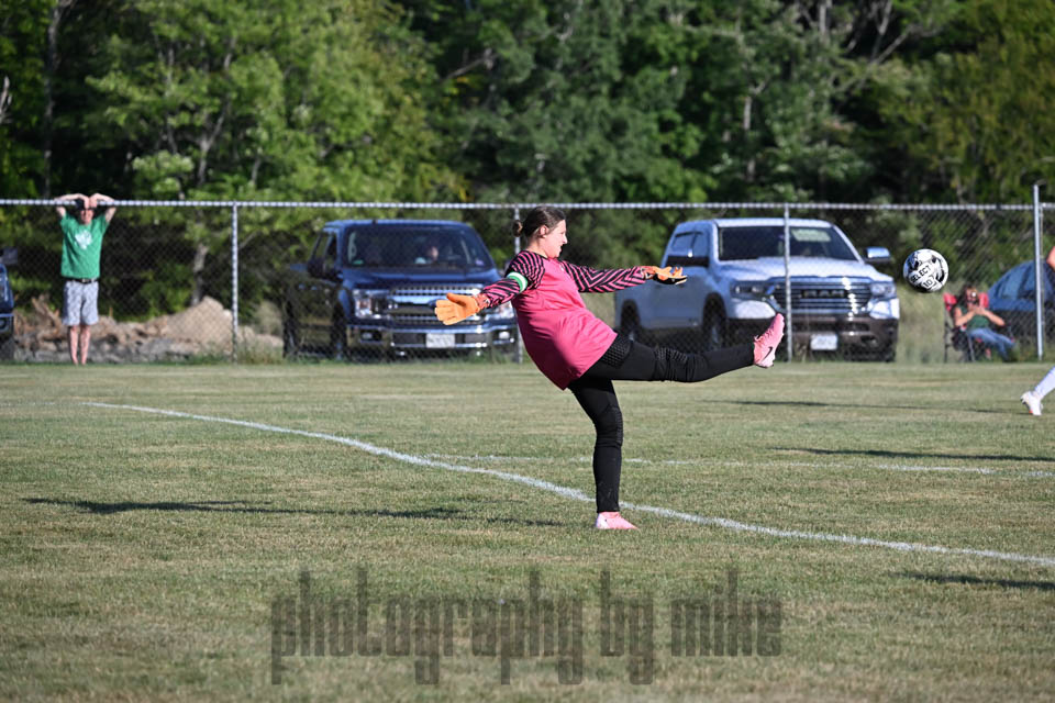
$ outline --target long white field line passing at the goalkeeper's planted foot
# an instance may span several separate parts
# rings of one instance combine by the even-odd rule
[[[556,483],[551,483],[548,481],[541,481],[538,479],[533,479],[526,476],[520,476],[519,473],[510,473],[508,471],[496,471],[491,469],[479,469],[479,468],[462,466],[457,464],[447,464],[445,461],[435,461],[432,459],[427,459],[425,457],[415,456],[412,454],[403,454],[401,451],[395,451],[392,449],[387,449],[385,447],[378,447],[378,446],[368,444],[366,442],[352,439],[351,437],[340,437],[337,435],[325,434],[322,432],[306,432],[303,429],[290,429],[288,427],[277,427],[275,425],[266,425],[258,422],[247,422],[244,420],[231,420],[227,417],[213,417],[210,415],[196,415],[193,413],[184,413],[175,410],[162,410],[158,408],[141,408],[138,405],[120,405],[120,404],[112,404],[112,403],[95,403],[95,402],[86,402],[84,404],[91,405],[93,408],[108,408],[111,410],[131,410],[131,411],[141,412],[141,413],[153,413],[155,415],[168,415],[170,417],[186,417],[188,420],[200,420],[202,422],[214,422],[214,423],[223,423],[227,425],[237,425],[240,427],[249,427],[253,429],[262,429],[264,432],[276,432],[276,433],[287,434],[287,435],[298,435],[301,437],[310,437],[313,439],[325,439],[326,442],[336,442],[337,444],[343,444],[349,447],[354,447],[356,449],[360,449],[363,451],[366,451],[367,454],[387,457],[389,459],[395,459],[397,461],[402,461],[404,464],[445,469],[447,471],[457,471],[460,473],[481,473],[481,475],[491,476],[498,479],[502,479],[503,481],[513,481],[517,483],[523,483],[525,486],[530,486],[532,488],[536,488],[543,491],[548,491],[551,493],[556,493],[557,495],[562,495],[564,498],[568,498],[575,501],[593,502],[593,498],[587,495],[582,491],[565,488],[563,486],[557,486]],[[729,520],[726,517],[707,517],[703,515],[693,515],[692,513],[682,513],[679,511],[670,510],[668,507],[640,505],[636,503],[623,503],[623,505],[631,510],[638,510],[644,513],[653,513],[662,517],[680,520],[687,523],[695,523],[698,525],[713,525],[717,527],[731,529],[733,532],[754,533],[759,535],[767,535],[770,537],[784,537],[788,539],[809,539],[812,542],[834,542],[840,544],[864,546],[864,547],[882,547],[885,549],[895,549],[897,551],[918,551],[918,553],[943,554],[943,555],[963,555],[963,556],[970,556],[970,557],[984,557],[988,559],[1000,559],[1003,561],[1024,561],[1029,563],[1039,563],[1046,567],[1055,567],[1055,557],[1015,554],[1012,551],[995,551],[991,549],[943,547],[941,545],[923,545],[923,544],[911,543],[911,542],[887,542],[884,539],[873,539],[870,537],[855,537],[853,535],[831,535],[825,533],[803,532],[798,529],[779,529],[776,527],[766,527],[763,525],[749,525],[746,523],[737,522],[735,520]]]

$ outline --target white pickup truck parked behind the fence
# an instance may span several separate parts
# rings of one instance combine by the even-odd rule
[[[786,233],[782,217],[682,222],[662,265],[682,267],[688,280],[617,292],[617,328],[685,350],[712,349],[749,341],[781,312],[797,357],[892,361],[900,306],[893,279],[873,266],[889,264],[890,253],[869,247],[862,257],[823,220],[787,224]]]

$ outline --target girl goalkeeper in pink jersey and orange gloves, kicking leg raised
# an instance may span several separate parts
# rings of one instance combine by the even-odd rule
[[[623,417],[612,381],[704,381],[754,364],[773,366],[784,336],[784,316],[753,344],[706,354],[652,348],[618,335],[597,319],[579,293],[608,293],[648,279],[685,282],[681,269],[635,266],[598,271],[558,260],[567,244],[567,222],[557,208],[540,207],[515,223],[528,245],[509,265],[506,278],[477,295],[447,293],[436,303],[436,316],[454,324],[512,300],[524,348],[535,366],[557,388],[570,389],[593,423],[593,482],[599,529],[636,529],[619,514]]]

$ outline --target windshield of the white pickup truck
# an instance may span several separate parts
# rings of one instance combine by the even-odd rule
[[[791,256],[856,260],[854,250],[832,227],[791,226]],[[723,261],[784,257],[784,225],[721,227],[718,256]]]

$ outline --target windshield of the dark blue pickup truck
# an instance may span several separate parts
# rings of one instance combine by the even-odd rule
[[[368,226],[348,232],[345,266],[363,268],[495,268],[471,230]]]

